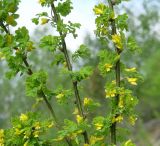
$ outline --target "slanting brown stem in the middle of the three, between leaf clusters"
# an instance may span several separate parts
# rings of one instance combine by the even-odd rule
[[[52,9],[52,12],[54,14],[53,19],[57,23],[59,21],[60,17],[58,17],[58,14],[56,12],[56,9],[55,9],[55,6],[54,6],[53,2],[51,3],[51,9]],[[66,41],[65,41],[64,35],[61,31],[59,31],[59,35],[60,35],[61,41],[62,41],[62,49],[63,49],[62,52],[64,53],[64,56],[65,56],[65,60],[66,60],[66,63],[67,63],[67,68],[68,68],[69,71],[72,71],[72,64],[71,64],[69,54],[68,54],[68,51],[67,51],[67,46],[66,46]],[[76,105],[77,105],[78,111],[79,111],[80,115],[83,117],[83,119],[85,119],[84,111],[83,111],[83,108],[82,108],[82,102],[81,102],[81,98],[80,98],[79,91],[78,91],[77,81],[72,80],[72,85],[73,85],[74,94],[75,94],[75,97],[76,97]],[[87,131],[84,131],[83,136],[84,136],[85,143],[89,144],[89,138],[88,138]]]

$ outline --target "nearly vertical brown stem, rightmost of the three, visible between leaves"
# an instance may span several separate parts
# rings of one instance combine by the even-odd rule
[[[108,0],[109,6],[110,8],[114,11],[114,3],[112,2],[112,0]],[[112,35],[117,34],[116,31],[116,24],[115,24],[115,20],[112,19],[111,20],[111,28],[112,28]],[[115,47],[115,50],[117,52],[118,55],[120,55],[120,50]],[[115,66],[115,76],[116,76],[116,86],[120,87],[120,59],[116,62],[116,66]],[[116,95],[115,99],[114,99],[114,104],[116,105],[116,107],[118,106],[118,102],[119,102],[119,94]],[[114,111],[114,105],[112,107],[112,112]],[[115,115],[115,118],[118,115]],[[110,129],[111,129],[111,143],[116,145],[116,125],[117,123],[114,122],[112,123]]]

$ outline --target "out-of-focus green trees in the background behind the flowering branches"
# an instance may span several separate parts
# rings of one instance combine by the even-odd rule
[[[160,1],[159,0],[130,0],[128,4],[121,5],[117,11],[129,15],[130,33],[136,38],[139,46],[142,48],[140,54],[123,56],[123,61],[128,65],[136,66],[144,77],[134,90],[139,98],[137,113],[139,119],[135,127],[129,127],[132,130],[132,137],[137,146],[160,146]],[[74,12],[73,12],[74,13]],[[44,35],[48,34],[49,28],[36,28],[32,34],[32,39],[36,42]],[[75,63],[74,66],[80,67],[83,64],[91,64],[97,67],[97,51],[106,48],[104,42],[99,42],[90,32],[84,35],[84,44],[92,52],[92,56],[87,60]],[[76,41],[76,40],[75,40]],[[71,50],[72,51],[72,50]],[[53,61],[52,54],[47,51],[36,49],[29,56],[29,62],[33,70],[44,69],[49,73],[48,86],[56,88],[63,84],[64,87],[71,87],[69,80],[59,72],[58,67],[51,66]],[[40,104],[38,109],[33,108],[35,100],[25,96],[25,76],[17,76],[15,79],[5,78],[7,65],[4,61],[0,62],[0,127],[9,127],[11,117],[26,112],[30,109],[44,111],[47,108]],[[104,80],[99,75],[98,70],[94,71],[92,77],[81,84],[81,96],[90,96],[102,103],[102,108],[97,113],[103,114],[106,111],[104,101]],[[52,100],[52,105],[60,119],[71,113],[69,106],[62,107]],[[66,116],[67,115],[67,116]]]

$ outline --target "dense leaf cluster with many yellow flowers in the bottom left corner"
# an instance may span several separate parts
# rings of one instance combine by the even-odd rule
[[[21,114],[12,119],[12,128],[4,132],[3,145],[45,146],[47,143],[43,135],[53,126],[51,120],[42,121],[37,113]]]

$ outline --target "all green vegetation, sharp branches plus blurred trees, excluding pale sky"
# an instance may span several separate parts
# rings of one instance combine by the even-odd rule
[[[41,12],[32,22],[49,24],[56,35],[40,32],[36,41],[25,26],[10,31],[20,1],[0,0],[0,145],[150,145],[132,133],[137,119],[159,117],[159,34],[152,28],[158,8],[144,1],[144,13],[134,16],[123,1],[98,3],[96,40],[86,36],[71,53],[66,37],[76,41],[81,26],[65,21],[71,0],[39,1],[51,13]],[[127,13],[119,12],[122,7]],[[136,133],[147,137],[143,130]]]

